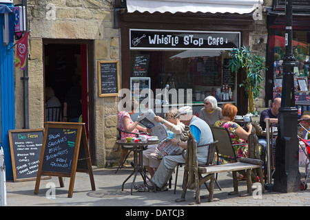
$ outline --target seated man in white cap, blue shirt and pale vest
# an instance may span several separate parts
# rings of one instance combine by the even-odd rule
[[[198,163],[206,164],[209,146],[205,146],[205,144],[209,144],[214,141],[209,125],[204,120],[201,120],[196,117],[196,115],[193,115],[192,107],[189,106],[180,107],[175,118],[177,117],[180,117],[180,121],[183,122],[183,124],[189,126],[195,140],[197,141]],[[179,142],[178,146],[186,148],[187,143]],[[161,164],[159,164],[154,176],[152,177],[152,181],[156,187],[161,190],[167,189],[167,181],[171,177],[174,168],[178,165],[178,163],[185,163],[185,159],[182,155],[163,157]],[[154,186],[150,182],[147,184],[137,184],[135,188],[136,190],[143,192],[154,190]]]

